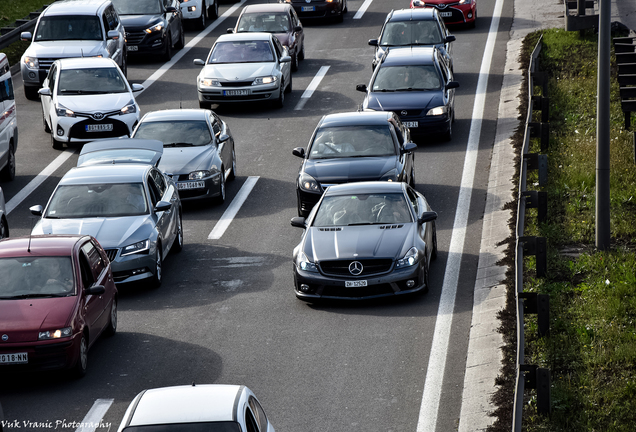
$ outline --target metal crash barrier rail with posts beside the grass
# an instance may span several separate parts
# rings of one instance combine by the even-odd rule
[[[513,402],[512,431],[521,431],[523,416],[523,398],[526,388],[537,392],[537,411],[540,414],[550,413],[550,370],[527,365],[524,353],[524,313],[537,314],[539,336],[550,332],[549,297],[545,294],[523,292],[523,256],[536,256],[537,277],[544,277],[547,270],[545,237],[525,237],[524,225],[526,208],[537,208],[539,222],[547,219],[547,192],[526,190],[528,170],[539,171],[539,186],[548,180],[548,157],[545,154],[529,153],[530,139],[541,139],[541,151],[549,144],[549,99],[545,97],[548,80],[545,73],[538,72],[537,58],[541,52],[543,36],[539,38],[532,51],[528,67],[528,114],[521,150],[521,167],[519,175],[519,195],[517,204],[517,229],[515,253],[515,298],[517,303],[517,380]],[[542,86],[540,96],[534,95],[534,87]],[[541,111],[541,121],[534,121],[533,112]]]

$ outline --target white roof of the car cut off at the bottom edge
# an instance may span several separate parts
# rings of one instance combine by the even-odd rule
[[[244,386],[225,384],[162,387],[143,392],[128,426],[236,421]]]

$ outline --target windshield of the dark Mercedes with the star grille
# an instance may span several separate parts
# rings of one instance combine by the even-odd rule
[[[312,226],[374,225],[412,222],[404,194],[325,196]]]

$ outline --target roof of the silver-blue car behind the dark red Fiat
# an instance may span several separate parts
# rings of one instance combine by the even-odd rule
[[[101,183],[140,183],[143,182],[150,165],[88,165],[71,168],[60,185],[101,184]]]

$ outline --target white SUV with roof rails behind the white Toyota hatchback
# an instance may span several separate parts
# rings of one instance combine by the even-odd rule
[[[20,61],[27,99],[37,100],[51,64],[60,58],[112,58],[126,75],[125,30],[110,0],[57,1],[40,14],[33,35],[20,37],[32,41]]]

